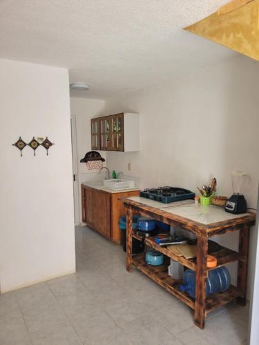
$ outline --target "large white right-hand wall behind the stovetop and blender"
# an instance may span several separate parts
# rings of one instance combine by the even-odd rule
[[[171,83],[106,102],[106,115],[140,113],[140,152],[108,152],[108,167],[139,176],[142,188],[189,188],[218,180],[218,194],[231,195],[231,172],[249,173],[249,207],[256,208],[259,172],[259,64],[235,57]],[[127,164],[131,163],[131,171]],[[250,269],[255,244],[251,231]],[[238,234],[223,243],[238,248]],[[235,266],[235,265],[234,265]],[[231,268],[235,282],[235,267]],[[249,282],[251,278],[249,275]]]

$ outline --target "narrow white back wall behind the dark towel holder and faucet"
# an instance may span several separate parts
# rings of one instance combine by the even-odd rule
[[[105,102],[100,99],[85,99],[79,97],[70,98],[71,115],[75,115],[77,126],[77,170],[79,188],[79,219],[81,221],[81,183],[86,181],[97,181],[102,177],[97,170],[88,170],[86,164],[80,163],[86,152],[91,150],[90,119],[104,115]],[[101,152],[106,159],[106,153]],[[106,163],[104,163],[105,166]],[[103,174],[103,173],[102,173]]]

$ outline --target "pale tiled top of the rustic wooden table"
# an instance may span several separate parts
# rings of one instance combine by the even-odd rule
[[[158,208],[166,213],[171,213],[172,215],[190,219],[191,221],[196,221],[204,225],[215,224],[220,221],[229,221],[231,219],[250,215],[249,213],[233,215],[232,213],[225,212],[225,210],[219,206],[201,206],[200,204],[195,204],[193,200],[183,200],[170,204],[162,204],[158,201],[153,201],[144,197],[128,197],[127,199],[143,204],[144,206]]]

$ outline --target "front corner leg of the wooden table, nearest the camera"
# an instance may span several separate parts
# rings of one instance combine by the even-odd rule
[[[194,323],[202,329],[204,328],[206,314],[207,255],[208,239],[205,236],[199,236],[197,242]]]

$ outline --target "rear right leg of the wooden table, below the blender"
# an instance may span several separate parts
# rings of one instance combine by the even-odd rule
[[[244,256],[244,260],[238,261],[238,288],[244,291],[244,295],[238,297],[237,302],[245,306],[247,302],[247,265],[249,249],[249,226],[244,227],[239,232],[239,253]]]

